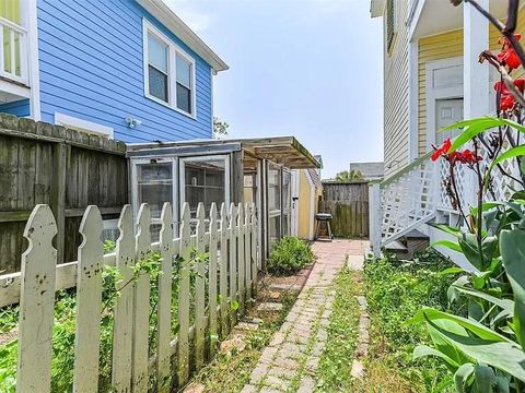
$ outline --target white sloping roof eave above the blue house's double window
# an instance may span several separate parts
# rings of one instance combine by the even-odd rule
[[[220,72],[230,68],[163,0],[136,1],[208,62],[213,71]]]

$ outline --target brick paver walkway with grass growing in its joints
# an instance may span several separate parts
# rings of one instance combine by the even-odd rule
[[[314,243],[317,262],[285,322],[262,352],[249,384],[242,393],[314,391],[313,372],[326,344],[326,326],[332,310],[334,278],[347,255],[351,267],[360,269],[366,246],[368,241],[360,240]]]

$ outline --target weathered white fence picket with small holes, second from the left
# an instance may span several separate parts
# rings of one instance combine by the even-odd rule
[[[98,391],[101,346],[102,273],[104,248],[102,215],[88,206],[80,224],[82,243],[77,265],[77,332],[74,335],[73,392]]]

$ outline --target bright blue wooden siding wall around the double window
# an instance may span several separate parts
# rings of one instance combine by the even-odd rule
[[[143,17],[195,59],[196,119],[144,97]],[[38,49],[43,121],[61,112],[125,142],[211,138],[210,66],[133,0],[38,0]]]

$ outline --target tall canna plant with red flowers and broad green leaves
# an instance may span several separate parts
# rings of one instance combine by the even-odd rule
[[[468,2],[491,22],[497,21],[476,1]],[[456,227],[435,225],[456,238],[436,245],[463,254],[469,263],[454,271],[462,275],[450,286],[447,296],[451,303],[466,299],[468,315],[435,308],[419,310],[410,322],[427,325],[432,346],[416,347],[413,358],[440,359],[453,374],[456,392],[525,389],[525,145],[520,144],[521,134],[525,133],[525,80],[511,76],[525,61],[525,53],[518,44],[521,37],[514,35],[516,15],[517,1],[510,1],[508,26],[495,23],[504,34],[501,52],[480,55],[501,74],[494,86],[498,117],[447,127],[445,130],[459,128],[462,133],[454,141],[434,146],[432,156],[433,160],[447,162],[445,190],[462,216]],[[476,179],[477,200],[470,209],[464,205],[458,192],[459,166],[466,166]],[[494,176],[512,184],[514,193],[510,198],[498,200]]]

